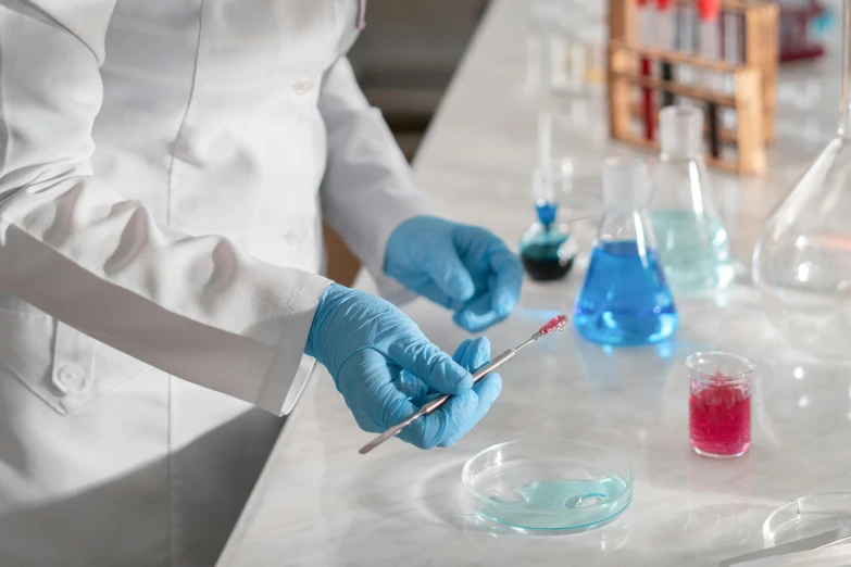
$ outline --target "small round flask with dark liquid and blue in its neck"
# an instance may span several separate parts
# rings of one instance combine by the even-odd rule
[[[565,223],[558,219],[559,201],[550,175],[533,174],[536,220],[521,236],[520,255],[526,274],[538,281],[561,279],[573,267],[578,247]]]

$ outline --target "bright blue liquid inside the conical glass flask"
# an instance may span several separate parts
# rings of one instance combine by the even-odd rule
[[[574,310],[574,325],[587,340],[617,346],[669,337],[679,317],[656,252],[642,257],[638,243],[598,244]]]

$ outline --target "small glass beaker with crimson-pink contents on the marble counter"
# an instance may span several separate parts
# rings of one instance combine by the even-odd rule
[[[755,366],[726,352],[686,358],[689,375],[689,439],[710,457],[743,455],[751,445],[751,390]]]

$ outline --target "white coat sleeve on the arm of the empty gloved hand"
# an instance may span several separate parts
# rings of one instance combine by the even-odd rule
[[[429,203],[381,113],[363,96],[348,59],[326,73],[320,110],[328,133],[321,191],[325,219],[373,275],[383,297],[409,301],[415,294],[384,274],[385,250],[396,227],[428,214]]]

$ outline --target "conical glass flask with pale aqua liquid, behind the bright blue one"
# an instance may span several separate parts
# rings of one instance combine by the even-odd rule
[[[650,219],[665,276],[677,297],[724,288],[736,270],[703,163],[703,113],[674,105],[659,119],[662,153]]]

